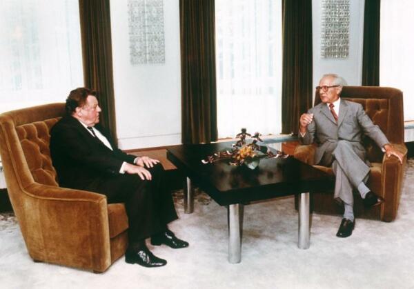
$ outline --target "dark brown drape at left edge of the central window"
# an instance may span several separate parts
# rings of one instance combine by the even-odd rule
[[[217,140],[215,1],[180,0],[183,143]]]

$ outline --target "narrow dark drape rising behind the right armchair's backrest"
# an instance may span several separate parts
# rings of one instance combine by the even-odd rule
[[[380,86],[380,0],[365,0],[362,86]]]

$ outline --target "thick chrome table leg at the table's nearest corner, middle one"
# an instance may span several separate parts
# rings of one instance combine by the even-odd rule
[[[244,206],[235,203],[228,206],[228,261],[242,261],[242,231]]]

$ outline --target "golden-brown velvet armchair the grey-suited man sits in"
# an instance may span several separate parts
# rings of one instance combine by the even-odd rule
[[[388,141],[404,154],[401,164],[396,157],[386,157],[382,150],[368,137],[364,140],[366,156],[371,162],[371,172],[368,188],[385,199],[381,206],[365,209],[359,194],[355,196],[355,215],[367,219],[393,221],[397,216],[400,205],[400,193],[404,167],[406,164],[407,148],[404,144],[404,113],[402,92],[395,88],[373,86],[345,86],[341,97],[349,101],[361,103],[366,113],[375,124],[380,126]],[[315,105],[320,102],[319,93],[315,95]],[[297,146],[295,158],[315,165],[313,157],[315,146]],[[315,166],[333,175],[331,168]],[[313,211],[328,214],[342,214],[342,207],[333,200],[332,194],[315,192],[313,194]]]

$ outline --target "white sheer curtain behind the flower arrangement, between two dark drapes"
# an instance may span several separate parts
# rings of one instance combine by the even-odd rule
[[[282,0],[216,0],[219,138],[282,130]]]

